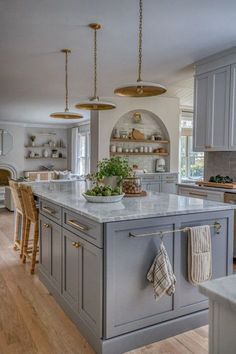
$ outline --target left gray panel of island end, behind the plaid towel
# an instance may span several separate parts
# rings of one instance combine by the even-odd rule
[[[154,298],[147,273],[157,255],[160,237],[135,235],[173,230],[160,219],[107,224],[105,243],[105,337],[110,338],[168,320],[173,315],[174,297]],[[174,265],[174,238],[167,235],[164,245]]]

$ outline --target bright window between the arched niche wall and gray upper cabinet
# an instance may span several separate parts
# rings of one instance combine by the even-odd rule
[[[204,153],[193,152],[193,115],[186,113],[181,117],[180,174],[181,180],[203,178]]]

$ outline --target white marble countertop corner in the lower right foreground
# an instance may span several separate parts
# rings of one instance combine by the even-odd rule
[[[220,302],[236,311],[236,274],[207,281],[198,288],[210,300]]]

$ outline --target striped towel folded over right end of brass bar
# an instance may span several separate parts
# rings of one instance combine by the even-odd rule
[[[197,285],[211,279],[211,231],[208,225],[188,230],[188,280]]]

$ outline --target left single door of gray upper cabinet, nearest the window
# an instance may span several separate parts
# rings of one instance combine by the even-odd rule
[[[194,81],[194,124],[193,148],[194,151],[204,151],[207,141],[206,126],[209,119],[210,105],[210,75],[198,75]]]

